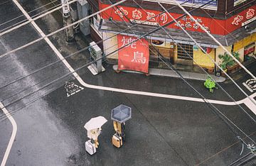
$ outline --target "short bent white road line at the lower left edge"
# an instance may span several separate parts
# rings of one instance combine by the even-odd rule
[[[9,121],[11,121],[11,125],[13,126],[13,131],[11,133],[11,138],[10,138],[9,143],[7,145],[6,152],[4,153],[4,158],[1,162],[1,166],[4,166],[4,165],[6,165],[6,161],[9,157],[11,147],[14,143],[14,138],[15,138],[16,133],[17,133],[17,124],[16,124],[14,118],[11,116],[11,114],[9,114],[9,111],[7,111],[7,109],[4,107],[4,104],[2,104],[1,102],[0,102],[0,109],[4,111],[4,114],[7,116]]]

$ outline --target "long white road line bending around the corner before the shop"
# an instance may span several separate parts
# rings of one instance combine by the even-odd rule
[[[28,20],[32,20],[32,18],[28,15],[28,13],[22,8],[20,4],[18,4],[18,1],[13,0],[16,6],[18,6],[18,9],[22,11],[22,13],[28,18]],[[32,25],[36,28],[36,31],[41,34],[42,37],[46,36],[43,31],[41,31],[41,28],[37,26],[37,24],[34,21],[31,21]],[[186,100],[186,101],[197,101],[197,102],[205,102],[203,99],[196,98],[196,97],[188,97],[188,96],[176,96],[176,95],[170,95],[170,94],[157,94],[153,92],[141,92],[141,91],[134,91],[134,90],[127,90],[127,89],[118,89],[118,88],[112,88],[112,87],[101,87],[97,85],[87,84],[85,83],[82,78],[78,75],[77,72],[71,67],[71,65],[68,63],[67,60],[63,57],[63,55],[60,54],[57,48],[51,43],[51,41],[48,38],[44,38],[46,40],[46,43],[50,46],[50,48],[53,49],[55,54],[60,58],[60,60],[64,63],[66,67],[68,67],[68,70],[73,73],[73,76],[78,79],[78,82],[82,84],[82,86],[91,88],[91,89],[101,89],[105,91],[112,91],[112,92],[119,92],[119,93],[127,93],[127,94],[139,94],[144,96],[156,96],[156,97],[162,97],[162,98],[168,98],[168,99],[179,99],[179,100]],[[242,104],[245,99],[242,99],[240,101],[234,102],[234,101],[218,101],[218,100],[211,100],[207,99],[212,104],[222,104],[222,105],[228,105],[228,106],[234,106],[238,104]]]

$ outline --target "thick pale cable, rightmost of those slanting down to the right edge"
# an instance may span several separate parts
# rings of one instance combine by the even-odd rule
[[[212,38],[212,39],[215,41],[215,43],[218,43],[218,45],[220,45],[220,47],[223,48],[223,50],[225,50],[225,52],[227,52],[228,55],[230,55],[230,57],[232,57],[232,59],[235,60],[235,62],[237,62],[238,65],[240,65],[240,67],[242,67],[242,68],[245,70],[245,72],[247,72],[248,74],[250,74],[250,76],[251,76],[253,79],[256,80],[256,77],[255,77],[249,70],[247,70],[247,68],[246,68],[244,65],[242,65],[242,64],[239,62],[239,60],[237,60],[237,59],[236,59],[236,58],[235,58],[235,57],[234,57],[234,56],[216,39],[216,38],[214,38],[213,35],[211,35],[208,31],[206,31],[206,28],[204,28],[204,27],[201,25],[201,23],[198,23],[198,21],[197,21],[195,18],[193,18],[193,16],[191,16],[191,14],[188,13],[188,11],[186,11],[186,9],[183,8],[183,6],[181,6],[180,4],[178,4],[178,2],[177,2],[176,0],[173,0],[173,1],[176,3],[176,5],[177,5],[178,7],[180,7],[185,13],[187,13],[188,16],[190,16],[190,18],[192,18],[193,21],[195,21],[195,23],[198,24],[198,26],[200,26],[200,28],[201,28],[203,31],[205,31],[205,32],[207,33],[207,35],[209,35],[210,38]],[[158,2],[158,3],[159,3],[159,2]],[[159,4],[160,4],[160,3],[159,3]]]

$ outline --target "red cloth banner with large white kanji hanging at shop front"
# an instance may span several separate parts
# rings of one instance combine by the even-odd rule
[[[128,35],[117,35],[118,48],[118,70],[135,70],[138,72],[149,72],[149,43],[145,39]],[[124,45],[124,48],[122,48]]]

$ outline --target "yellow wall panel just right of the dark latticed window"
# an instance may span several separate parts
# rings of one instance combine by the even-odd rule
[[[208,55],[215,60],[215,49],[213,48]],[[193,49],[193,65],[200,65],[201,67],[214,69],[215,64],[212,62],[212,60],[210,60],[208,55],[206,55],[200,48]]]

